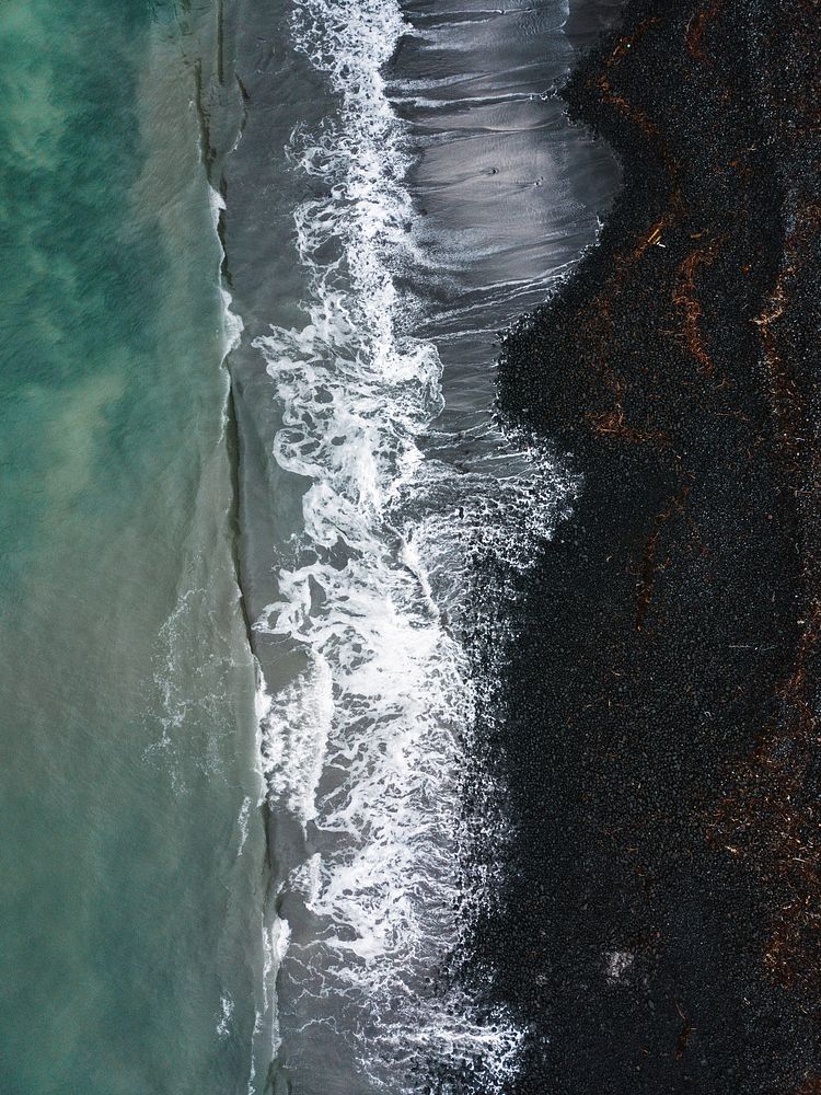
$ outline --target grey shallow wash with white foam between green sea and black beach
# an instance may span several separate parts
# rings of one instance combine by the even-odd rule
[[[470,968],[505,840],[477,758],[505,574],[578,484],[496,419],[494,338],[615,184],[550,94],[566,19],[305,0],[234,24],[231,370],[273,856],[257,1052],[276,1047],[277,1091],[516,1073],[521,1031]]]

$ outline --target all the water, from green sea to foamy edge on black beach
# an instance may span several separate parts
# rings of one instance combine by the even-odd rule
[[[614,3],[0,13],[0,1090],[513,1090],[496,332],[616,184]]]

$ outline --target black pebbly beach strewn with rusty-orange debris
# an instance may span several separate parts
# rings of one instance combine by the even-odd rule
[[[625,177],[500,374],[583,475],[507,682],[517,1092],[821,1092],[820,26],[635,0],[565,91]]]

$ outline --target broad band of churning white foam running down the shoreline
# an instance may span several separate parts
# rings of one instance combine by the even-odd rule
[[[500,427],[485,428],[466,470],[423,459],[441,366],[401,333],[396,274],[417,256],[405,134],[381,76],[403,28],[395,0],[296,4],[297,47],[339,108],[289,147],[316,184],[294,210],[305,323],[256,344],[282,416],[276,460],[307,484],[303,532],[255,625],[305,660],[276,694],[261,676],[257,695],[268,802],[305,838],[278,894],[280,908],[301,906],[300,924],[291,937],[282,913],[267,929],[267,976],[280,973],[275,1040],[289,1065],[331,1030],[368,1090],[418,1091],[432,1065],[471,1072],[490,1095],[516,1070],[522,1031],[482,1015],[447,973],[467,930],[460,911],[490,900],[487,864],[459,898],[476,827],[497,853],[505,835],[489,784],[484,820],[465,827],[489,685],[443,612],[458,614],[473,552],[527,565],[562,491],[548,456]]]

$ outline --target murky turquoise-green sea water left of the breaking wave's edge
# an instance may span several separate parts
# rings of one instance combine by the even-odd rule
[[[211,23],[0,8],[4,1095],[247,1090],[262,840],[194,108]]]

